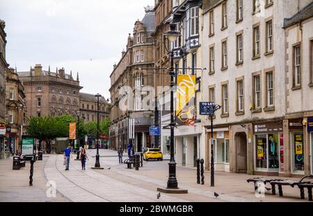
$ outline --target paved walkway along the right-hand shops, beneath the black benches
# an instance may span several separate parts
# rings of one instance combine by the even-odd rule
[[[111,150],[100,150],[100,155],[111,155],[113,156],[116,151]],[[88,150],[90,156],[95,157],[94,150]],[[125,158],[124,158],[125,159]],[[129,178],[134,178],[138,181],[143,181],[146,183],[151,183],[154,185],[154,189],[159,186],[166,186],[168,179],[168,161],[144,161],[143,167],[140,167],[139,171],[135,169],[126,169],[126,165],[118,164],[118,158],[101,158],[100,163],[102,167],[111,167],[110,171],[106,174],[113,176],[113,172],[118,174],[115,178],[120,178],[120,176],[129,176]],[[179,182],[179,188],[188,189],[189,194],[193,194],[195,201],[199,201],[200,197],[206,197],[213,199],[214,192],[218,192],[220,197],[218,201],[303,201],[300,200],[300,190],[297,187],[284,187],[284,197],[278,197],[271,195],[271,191],[266,192],[264,198],[255,197],[255,192],[253,190],[252,183],[247,183],[246,179],[250,177],[248,174],[233,174],[225,172],[216,172],[215,174],[215,187],[211,188],[210,184],[210,172],[204,172],[205,185],[198,185],[196,183],[196,170],[188,167],[178,167],[177,166],[177,181]],[[262,177],[262,176],[259,176]],[[266,177],[266,176],[263,176]],[[280,177],[281,178],[281,177]],[[287,178],[286,178],[287,179]],[[298,181],[298,178],[288,178],[290,180]],[[271,188],[269,185],[266,187]],[[305,191],[305,193],[307,193]],[[307,194],[306,194],[307,196]],[[216,199],[214,198],[214,201]],[[307,201],[307,199],[305,200]]]

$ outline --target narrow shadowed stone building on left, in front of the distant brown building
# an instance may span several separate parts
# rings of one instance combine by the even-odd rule
[[[7,132],[8,144],[14,154],[21,152],[25,108],[24,86],[16,70],[9,68],[6,74],[6,122],[7,128],[10,128]]]

